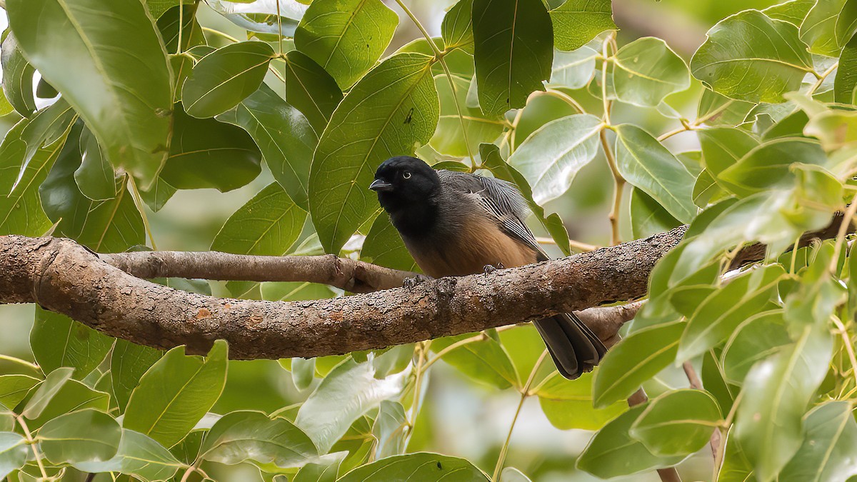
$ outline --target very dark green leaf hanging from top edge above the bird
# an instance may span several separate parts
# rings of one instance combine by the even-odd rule
[[[501,114],[523,107],[550,78],[554,48],[548,10],[539,0],[473,0],[473,11],[479,12],[473,38],[482,111]]]

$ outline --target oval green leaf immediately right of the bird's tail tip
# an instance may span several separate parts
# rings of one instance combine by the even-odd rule
[[[592,384],[595,406],[625,400],[675,359],[683,322],[668,322],[635,331],[607,352]]]

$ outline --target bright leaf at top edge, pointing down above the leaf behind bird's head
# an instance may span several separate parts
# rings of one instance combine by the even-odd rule
[[[297,26],[295,46],[345,89],[375,65],[398,24],[381,0],[320,0]]]

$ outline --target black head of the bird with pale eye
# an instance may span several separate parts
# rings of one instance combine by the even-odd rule
[[[399,232],[428,227],[434,222],[435,196],[440,192],[437,172],[422,160],[399,156],[385,160],[375,171],[370,190],[378,193],[381,207]]]

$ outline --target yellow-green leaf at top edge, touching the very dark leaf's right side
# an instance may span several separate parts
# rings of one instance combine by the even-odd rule
[[[550,11],[554,24],[554,45],[573,51],[605,30],[616,30],[610,0],[566,0]]]

